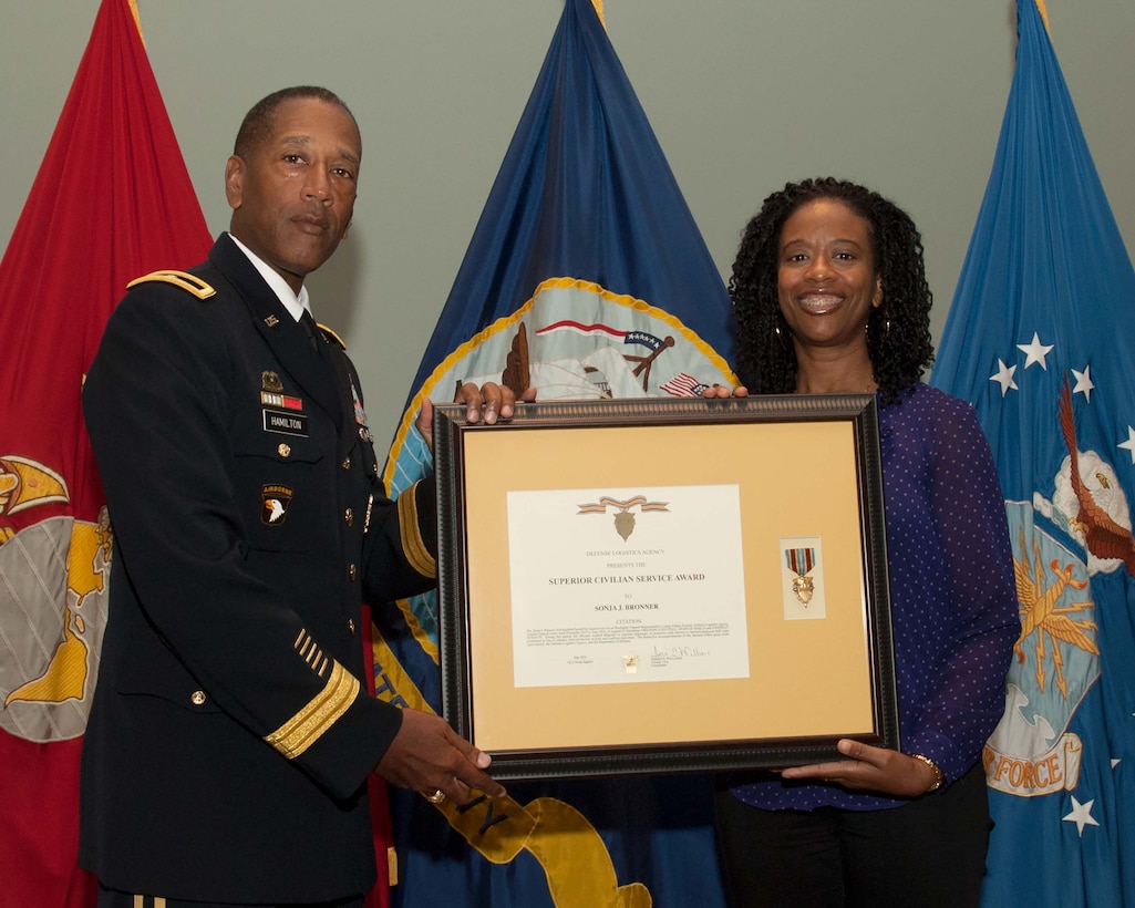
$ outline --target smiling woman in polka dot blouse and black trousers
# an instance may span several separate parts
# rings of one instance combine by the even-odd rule
[[[922,238],[863,186],[789,184],[749,221],[730,293],[740,393],[878,390],[903,748],[843,739],[841,760],[724,779],[733,900],[976,906],[990,830],[978,757],[1003,706],[1017,597],[982,428],[920,381],[932,360]]]

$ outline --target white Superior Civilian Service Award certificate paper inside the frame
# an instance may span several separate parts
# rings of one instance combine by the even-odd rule
[[[748,678],[735,485],[507,493],[516,687]]]

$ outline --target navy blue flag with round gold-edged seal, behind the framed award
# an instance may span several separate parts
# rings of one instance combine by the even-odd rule
[[[730,319],[592,3],[566,0],[414,378],[387,461],[392,494],[429,469],[413,429],[426,396],[448,402],[459,381],[488,379],[535,386],[541,401],[698,395],[735,384]],[[377,624],[378,695],[437,711],[436,597],[392,605]],[[464,814],[395,792],[395,903],[723,903],[708,776],[510,783],[508,792]]]

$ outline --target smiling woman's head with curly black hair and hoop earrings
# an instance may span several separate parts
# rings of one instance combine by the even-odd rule
[[[886,404],[934,359],[922,235],[854,183],[806,179],[770,195],[745,228],[730,294],[753,393],[877,389]]]

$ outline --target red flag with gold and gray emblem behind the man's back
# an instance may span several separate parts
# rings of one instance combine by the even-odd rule
[[[109,533],[81,388],[133,278],[211,239],[129,0],[103,0],[0,261],[0,907],[94,905],[78,757]]]

